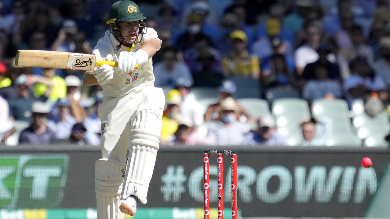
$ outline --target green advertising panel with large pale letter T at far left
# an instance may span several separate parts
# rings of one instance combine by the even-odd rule
[[[57,207],[68,161],[66,154],[0,155],[0,208]]]

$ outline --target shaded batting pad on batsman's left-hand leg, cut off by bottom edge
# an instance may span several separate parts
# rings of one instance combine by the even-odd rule
[[[119,210],[124,177],[122,164],[113,159],[99,159],[95,163],[95,193],[97,219],[123,219]]]

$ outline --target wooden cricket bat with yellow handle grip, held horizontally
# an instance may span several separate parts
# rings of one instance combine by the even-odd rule
[[[82,53],[18,50],[15,58],[15,65],[20,67],[93,71],[96,66],[104,64],[118,67],[117,62],[96,60],[96,55]],[[135,69],[138,69],[138,64],[135,65]]]

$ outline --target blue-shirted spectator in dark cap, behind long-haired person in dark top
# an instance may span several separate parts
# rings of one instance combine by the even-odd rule
[[[295,63],[294,63],[294,57],[292,55],[285,54],[286,46],[284,42],[279,37],[273,37],[271,41],[271,47],[272,47],[272,54],[269,57],[264,58],[261,60],[261,74],[269,75],[271,74],[271,65],[273,64],[270,62],[273,55],[283,55],[285,62],[287,64],[287,68],[290,73],[293,73],[295,71]]]

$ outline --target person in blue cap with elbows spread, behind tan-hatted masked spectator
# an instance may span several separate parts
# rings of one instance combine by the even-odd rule
[[[218,106],[227,97],[233,98],[236,94],[236,83],[231,79],[223,79],[221,85],[217,88],[220,101],[207,107],[204,114],[204,122],[210,122],[218,118]],[[236,103],[238,115],[244,115],[248,121],[254,121],[254,118],[238,103]]]

